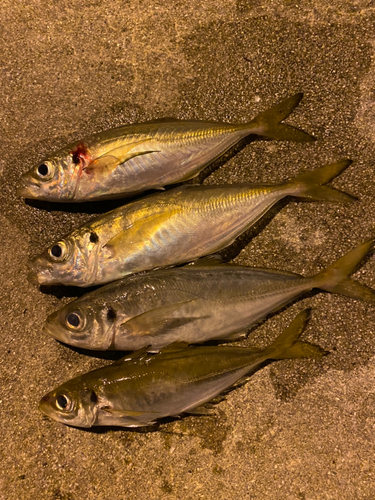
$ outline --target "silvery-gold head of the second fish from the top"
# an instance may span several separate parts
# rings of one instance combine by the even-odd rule
[[[29,261],[29,281],[39,285],[93,285],[98,249],[96,233],[79,228]]]

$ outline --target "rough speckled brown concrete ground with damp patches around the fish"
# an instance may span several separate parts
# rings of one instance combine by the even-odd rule
[[[245,122],[302,91],[289,118],[314,144],[257,141],[200,182],[277,181],[341,158],[348,206],[290,200],[227,256],[313,274],[373,236],[375,4],[369,0],[2,0],[0,499],[375,498],[375,307],[307,295],[253,330],[266,345],[306,306],[322,361],[280,361],[216,407],[155,432],[82,431],[41,396],[108,360],[47,338],[79,291],[42,293],[26,262],[95,212],[25,203],[20,174],[68,142],[156,117]],[[355,275],[375,287],[374,257]]]

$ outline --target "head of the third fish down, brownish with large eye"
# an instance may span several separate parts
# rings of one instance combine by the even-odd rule
[[[48,316],[44,333],[66,344],[105,351],[115,332],[116,312],[112,307],[89,303],[82,297]]]

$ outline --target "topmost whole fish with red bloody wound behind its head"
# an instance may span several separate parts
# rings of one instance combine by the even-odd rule
[[[65,203],[122,198],[192,179],[247,136],[314,141],[281,123],[302,96],[288,97],[245,124],[164,118],[100,132],[31,168],[21,176],[17,193]]]

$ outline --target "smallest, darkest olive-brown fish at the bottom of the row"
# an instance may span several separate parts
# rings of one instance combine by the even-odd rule
[[[177,342],[157,354],[138,350],[60,385],[41,399],[39,410],[83,428],[144,427],[165,417],[204,414],[205,403],[267,360],[319,359],[327,354],[299,340],[308,316],[308,310],[302,311],[265,349]]]

